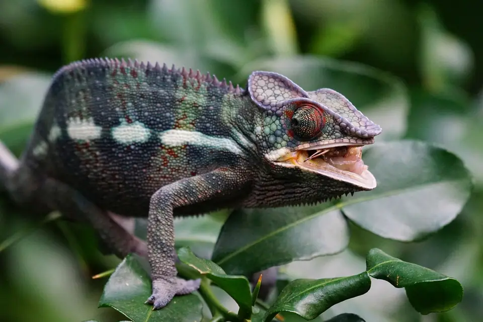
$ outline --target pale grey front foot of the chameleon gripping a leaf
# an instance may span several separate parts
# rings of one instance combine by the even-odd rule
[[[163,308],[175,295],[186,295],[196,291],[200,287],[201,279],[184,280],[176,278],[174,282],[157,279],[152,281],[152,295],[146,303],[152,304],[153,309]]]

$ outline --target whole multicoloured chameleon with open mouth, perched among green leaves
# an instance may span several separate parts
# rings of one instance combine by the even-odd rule
[[[372,190],[362,147],[382,129],[342,94],[253,71],[245,88],[166,64],[93,58],[53,75],[28,145],[0,143],[0,187],[39,214],[88,222],[123,257],[148,258],[165,307],[177,276],[174,217],[325,202]],[[146,240],[122,218],[147,217]]]

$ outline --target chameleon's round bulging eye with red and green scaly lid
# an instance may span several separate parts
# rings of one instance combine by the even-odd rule
[[[318,109],[304,105],[293,113],[290,123],[295,135],[310,140],[320,134],[326,122]]]

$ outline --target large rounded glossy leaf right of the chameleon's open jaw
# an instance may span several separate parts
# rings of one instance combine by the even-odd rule
[[[471,178],[461,159],[418,141],[376,143],[362,153],[377,180],[339,204],[362,228],[385,238],[411,241],[451,222],[468,200]]]

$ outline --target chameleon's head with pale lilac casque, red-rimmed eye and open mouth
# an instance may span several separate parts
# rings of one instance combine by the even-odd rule
[[[255,135],[268,162],[299,169],[305,179],[324,176],[352,191],[376,187],[361,156],[362,146],[374,143],[381,128],[343,95],[330,89],[305,92],[287,77],[264,71],[250,75],[248,91],[262,108]]]

